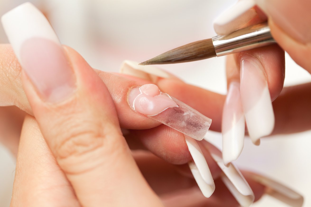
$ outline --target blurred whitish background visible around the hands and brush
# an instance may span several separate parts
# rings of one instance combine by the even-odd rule
[[[0,15],[23,3],[0,0]],[[235,0],[33,0],[49,18],[61,43],[73,47],[96,69],[117,72],[123,60],[145,61],[174,47],[215,35],[215,17]],[[0,43],[7,38],[0,28]],[[226,94],[225,57],[162,65],[185,82]],[[309,73],[286,55],[285,86],[311,82]],[[208,106],[207,106],[208,107]],[[310,106],[311,107],[311,106]],[[10,121],[10,120],[7,120]],[[221,146],[220,133],[209,139]],[[235,162],[286,184],[311,206],[311,131],[262,139],[260,146],[245,140]],[[15,157],[0,144],[0,206],[12,195]],[[286,206],[264,196],[253,207]]]

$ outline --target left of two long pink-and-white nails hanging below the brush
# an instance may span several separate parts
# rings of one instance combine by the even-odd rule
[[[231,82],[222,113],[222,158],[224,164],[238,159],[244,146],[245,118],[240,83]]]

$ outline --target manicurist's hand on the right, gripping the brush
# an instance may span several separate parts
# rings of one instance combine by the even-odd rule
[[[227,58],[227,85],[222,119],[225,163],[236,160],[243,148],[244,122],[255,144],[276,133],[308,130],[310,83],[283,88],[284,50],[311,72],[311,2],[308,0],[240,0],[214,22],[218,34],[268,21],[278,44],[236,53]],[[272,104],[273,101],[273,104]],[[230,147],[232,143],[237,148]]]

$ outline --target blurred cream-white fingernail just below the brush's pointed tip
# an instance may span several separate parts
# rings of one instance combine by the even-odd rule
[[[122,74],[135,76],[137,78],[150,80],[153,83],[156,83],[157,79],[159,78],[178,79],[173,74],[161,70],[158,67],[152,65],[138,65],[138,62],[129,60],[123,61],[119,72]]]

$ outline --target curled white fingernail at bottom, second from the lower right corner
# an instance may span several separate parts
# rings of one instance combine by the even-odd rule
[[[239,169],[232,163],[226,167],[223,164],[224,161],[221,158],[221,152],[209,142],[204,141],[202,143],[223,171],[224,174],[221,176],[221,179],[234,198],[242,207],[250,206],[254,202],[255,196]]]

